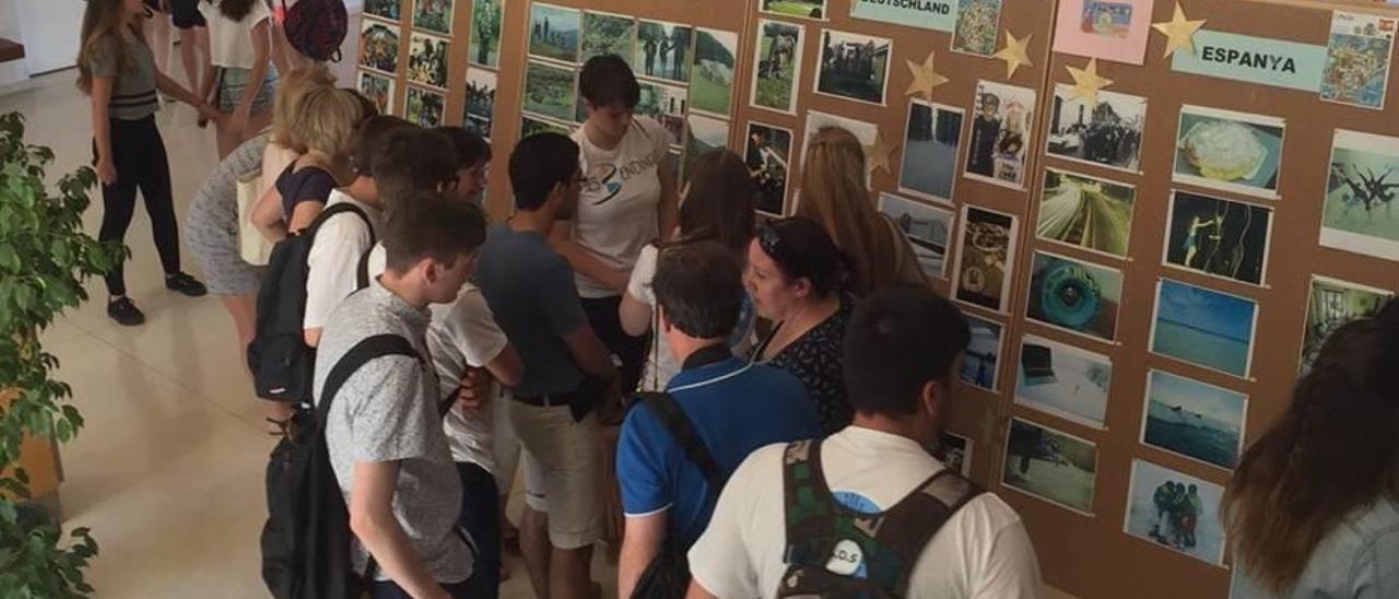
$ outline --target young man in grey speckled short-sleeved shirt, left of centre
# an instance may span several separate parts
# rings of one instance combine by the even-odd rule
[[[326,448],[358,543],[374,558],[375,598],[467,598],[473,554],[456,529],[462,483],[442,432],[438,378],[427,361],[431,304],[450,302],[471,274],[484,218],[418,193],[386,223],[388,270],[326,320],[316,354],[316,402],[334,365],[361,341],[400,336],[418,354],[365,362],[326,411]]]

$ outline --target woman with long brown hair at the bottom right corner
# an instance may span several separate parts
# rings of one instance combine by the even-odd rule
[[[1240,459],[1220,508],[1233,598],[1399,596],[1396,316],[1336,329]]]

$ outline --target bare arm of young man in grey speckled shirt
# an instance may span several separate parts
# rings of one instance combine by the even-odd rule
[[[449,598],[428,572],[393,515],[397,462],[355,462],[350,488],[350,530],[395,584],[413,598]]]

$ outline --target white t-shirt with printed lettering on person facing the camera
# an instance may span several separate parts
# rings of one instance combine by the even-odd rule
[[[586,127],[574,133],[583,189],[574,216],[574,242],[613,267],[631,270],[641,248],[660,238],[660,162],[670,146],[667,133],[653,119],[637,116],[616,148],[603,150],[588,140]],[[585,298],[617,295],[618,290],[576,273],[578,294]]]

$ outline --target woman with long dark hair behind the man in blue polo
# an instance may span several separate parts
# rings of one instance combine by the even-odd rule
[[[753,178],[743,158],[729,150],[705,154],[695,162],[694,176],[686,189],[686,202],[680,204],[680,228],[676,244],[701,239],[716,241],[727,248],[743,265],[748,242],[753,239],[755,218],[753,213]],[[656,295],[651,291],[651,280],[656,276],[658,244],[646,244],[641,249],[637,266],[631,270],[627,293],[621,298],[620,318],[627,334],[642,336],[652,330],[656,316]],[[734,355],[748,354],[753,333],[753,301],[743,297],[743,308],[737,326],[729,336],[729,348]],[[670,378],[680,372],[680,362],[662,343],[652,343],[646,355],[638,388],[641,390],[665,390]]]

